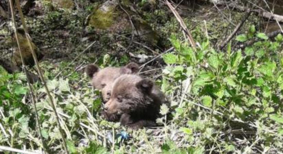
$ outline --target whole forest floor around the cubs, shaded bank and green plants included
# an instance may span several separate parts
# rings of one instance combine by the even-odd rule
[[[275,74],[276,69],[280,70],[278,74],[282,69],[270,68],[274,66],[273,61],[276,67],[280,66],[282,59],[275,57],[282,56],[282,42],[280,36],[267,39],[263,34],[265,32],[268,36],[269,32],[275,31],[272,28],[278,26],[277,23],[270,21],[266,26],[265,18],[252,13],[231,42],[219,49],[248,13],[234,8],[232,2],[217,6],[203,1],[176,3],[176,11],[196,42],[198,49],[193,52],[187,35],[165,1],[134,2],[130,3],[134,10],[160,36],[157,44],[133,35],[133,32],[112,32],[89,27],[88,17],[102,4],[101,1],[74,0],[71,7],[66,8],[61,3],[39,0],[25,13],[32,42],[44,55],[40,67],[57,105],[68,151],[282,152],[282,103],[278,103],[282,94],[278,87],[283,84],[281,78],[279,81],[281,75]],[[238,2],[235,6],[251,5],[246,3]],[[0,36],[10,39],[12,20],[0,19]],[[20,27],[18,15],[16,21]],[[10,46],[5,45],[6,38],[2,39],[4,41],[1,39],[0,43],[4,42],[1,54],[11,56]],[[244,44],[247,40],[256,39],[263,40],[261,46],[255,45],[250,49]],[[168,50],[171,47],[174,48]],[[243,51],[239,51],[241,49]],[[266,53],[262,53],[261,49]],[[267,53],[269,50],[272,53]],[[271,62],[267,57],[275,59]],[[103,68],[123,66],[128,62],[138,63],[141,66],[139,75],[155,81],[169,98],[171,105],[162,108],[161,114],[172,111],[172,120],[168,121],[166,114],[163,114],[162,119],[158,119],[163,126],[130,130],[100,117],[100,94],[93,89],[84,68],[91,63]],[[36,72],[35,69],[31,70]],[[270,76],[265,79],[267,73],[262,73],[262,70],[272,70],[277,75],[276,80],[269,81]],[[260,72],[265,76],[261,77]],[[33,86],[41,139],[24,74],[9,75],[2,68],[0,73],[0,92],[3,94],[0,97],[0,124],[4,129],[1,129],[0,144],[37,153],[43,147],[48,147],[45,150],[50,153],[64,153],[56,117],[43,86],[40,83]],[[261,80],[258,77],[266,82],[264,85],[272,83],[274,86],[259,85]],[[257,83],[253,84],[253,79]],[[244,105],[241,102],[245,102]],[[276,102],[277,105],[273,106]]]

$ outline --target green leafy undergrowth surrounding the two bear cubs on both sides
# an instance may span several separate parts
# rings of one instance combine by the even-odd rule
[[[86,75],[61,62],[44,64],[48,88],[57,105],[70,153],[261,153],[282,151],[283,57],[281,34],[270,40],[251,26],[236,37],[245,47],[231,43],[218,52],[204,40],[194,51],[175,35],[175,50],[163,55],[167,64],[156,81],[171,102],[162,106],[163,127],[129,130],[98,115],[99,92]],[[102,67],[123,65],[105,55]],[[38,150],[35,111],[23,73],[0,70],[0,144]],[[61,72],[57,78],[55,76]],[[72,72],[72,73],[70,73]],[[41,133],[46,147],[62,153],[55,115],[41,84],[34,84]],[[171,110],[172,120],[166,120]],[[165,122],[164,122],[165,120]]]

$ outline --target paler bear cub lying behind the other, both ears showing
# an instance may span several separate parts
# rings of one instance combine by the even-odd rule
[[[110,99],[112,84],[115,79],[123,74],[133,74],[138,72],[138,64],[130,62],[124,67],[106,67],[100,69],[97,65],[90,64],[86,67],[86,74],[92,78],[94,88],[101,90],[103,102]]]

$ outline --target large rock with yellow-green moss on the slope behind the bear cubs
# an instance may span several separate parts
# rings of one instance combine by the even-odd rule
[[[121,1],[121,5],[131,16],[135,28],[134,34],[139,36],[142,40],[156,45],[160,38],[158,33],[154,31],[145,20],[136,14],[136,11],[133,12],[127,7],[130,5],[130,1]],[[88,26],[93,27],[96,30],[106,30],[118,34],[130,33],[133,30],[128,15],[121,9],[116,0],[108,0],[103,4],[96,6],[87,20]]]

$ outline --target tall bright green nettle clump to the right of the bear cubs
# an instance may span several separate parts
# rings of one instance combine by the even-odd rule
[[[173,122],[185,124],[181,130],[191,144],[200,138],[205,142],[197,146],[207,146],[220,139],[221,131],[243,129],[256,134],[249,137],[260,136],[261,148],[273,143],[282,148],[278,144],[283,135],[281,34],[271,41],[252,25],[247,34],[236,37],[244,50],[232,51],[230,43],[226,52],[215,51],[208,40],[196,51],[175,36],[170,40],[175,51],[163,56],[168,66],[162,90],[172,96]],[[199,132],[200,136],[192,135]],[[231,138],[221,140],[220,152],[235,150]]]

